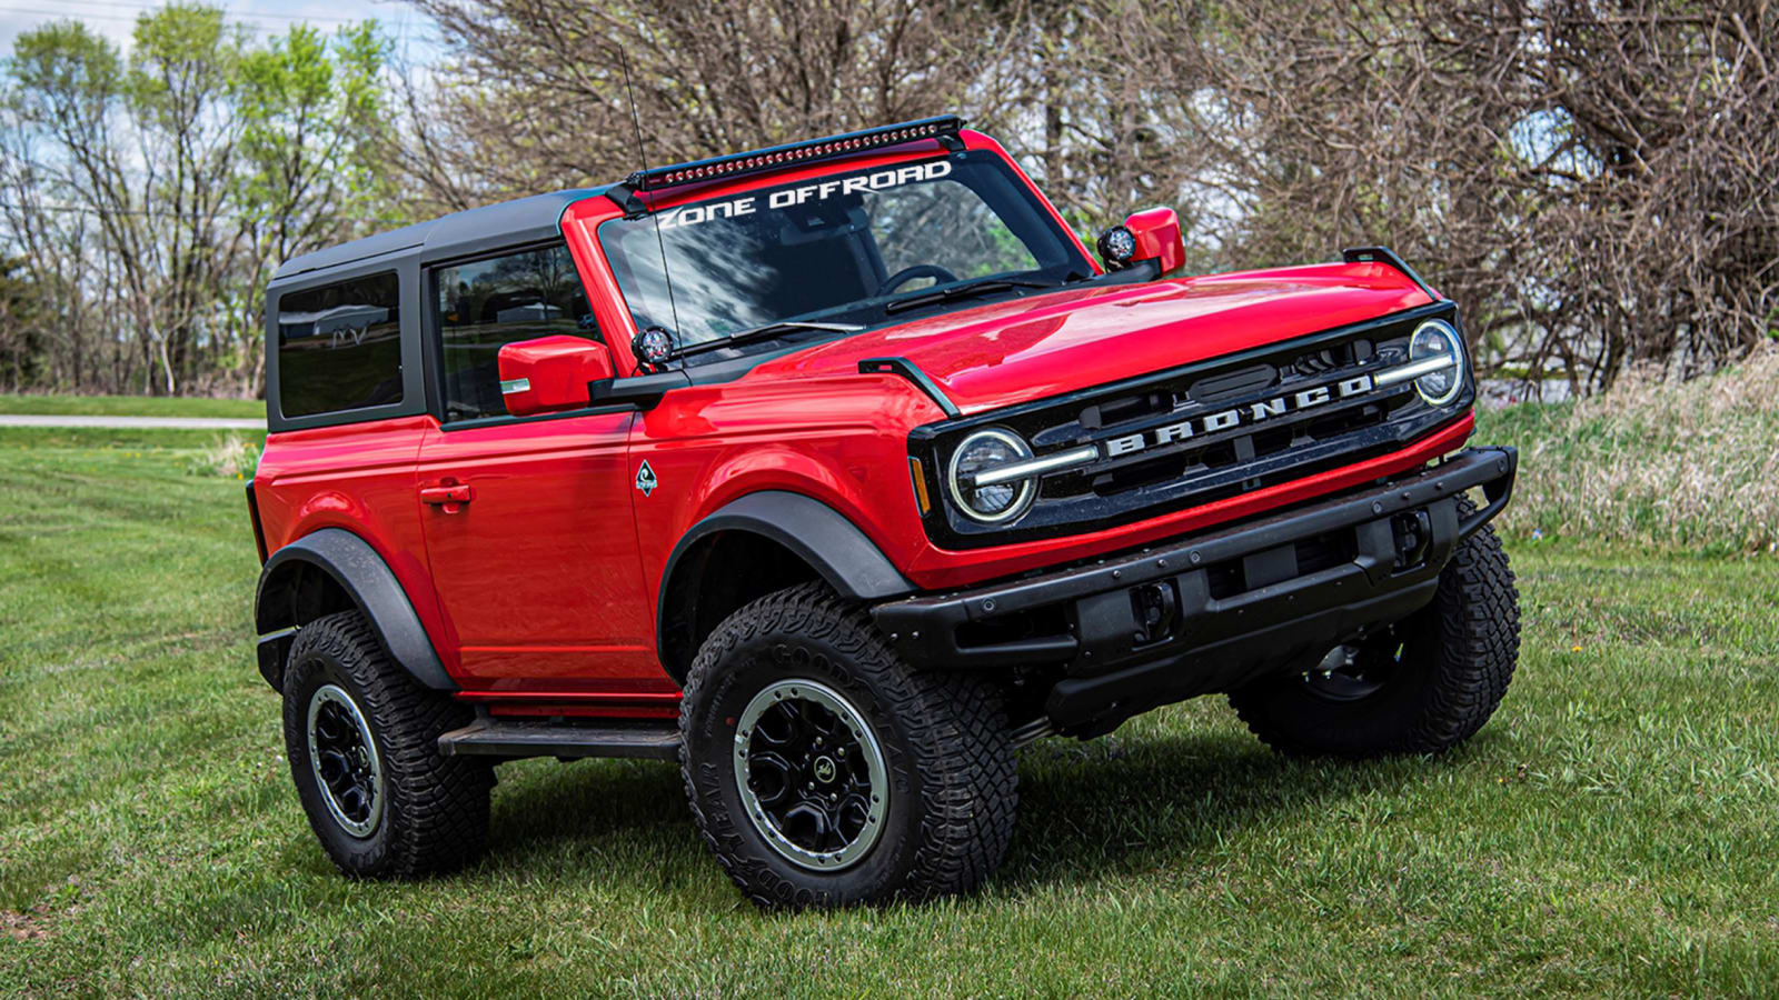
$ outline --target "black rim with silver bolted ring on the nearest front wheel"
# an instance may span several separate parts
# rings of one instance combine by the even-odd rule
[[[865,715],[811,680],[767,685],[742,710],[735,786],[772,851],[815,872],[863,859],[890,810],[888,767]]]

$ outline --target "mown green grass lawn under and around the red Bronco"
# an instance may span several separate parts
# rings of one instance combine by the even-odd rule
[[[213,434],[0,431],[0,993],[1770,993],[1779,560],[1516,544],[1521,671],[1439,760],[1219,699],[1023,751],[980,897],[761,916],[678,774],[500,770],[493,845],[334,874],[253,665]],[[114,443],[116,441],[116,443]]]

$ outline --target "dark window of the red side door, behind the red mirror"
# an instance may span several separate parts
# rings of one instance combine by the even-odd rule
[[[555,333],[600,340],[566,246],[439,267],[432,281],[447,422],[507,415],[500,400],[502,345]]]

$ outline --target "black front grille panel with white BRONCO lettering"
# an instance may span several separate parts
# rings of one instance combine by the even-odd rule
[[[1101,530],[1397,450],[1466,409],[1469,386],[1445,407],[1427,406],[1413,383],[1336,390],[1350,379],[1370,383],[1375,372],[1407,361],[1413,329],[1430,317],[1455,322],[1453,313],[1450,302],[1437,302],[1235,358],[918,429],[911,447],[934,457],[925,468],[941,496],[938,475],[950,448],[980,427],[1014,431],[1039,457],[1101,447],[1098,461],[1044,475],[1032,509],[1012,525],[980,525],[945,505],[927,516],[927,532],[945,548],[971,548]],[[1300,393],[1318,391],[1327,399],[1293,406]],[[1235,423],[1222,423],[1231,413]],[[1183,423],[1190,432],[1179,432]],[[1112,448],[1114,441],[1130,447]]]

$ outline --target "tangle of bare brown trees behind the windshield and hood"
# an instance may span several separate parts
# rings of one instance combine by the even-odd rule
[[[1772,4],[413,2],[452,53],[409,91],[441,206],[961,110],[1082,230],[1174,205],[1199,269],[1393,244],[1528,377],[1779,327]]]

